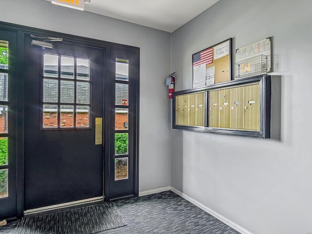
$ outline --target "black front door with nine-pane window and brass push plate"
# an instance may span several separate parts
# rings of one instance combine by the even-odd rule
[[[25,39],[24,209],[102,198],[104,50]],[[96,124],[97,123],[97,124]]]

